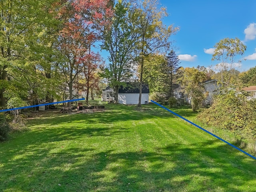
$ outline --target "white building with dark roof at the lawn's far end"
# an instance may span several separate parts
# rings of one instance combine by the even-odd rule
[[[118,90],[118,103],[120,104],[138,104],[139,103],[139,83],[127,83],[126,86],[120,86]],[[148,104],[149,87],[148,84],[142,84],[141,104]]]

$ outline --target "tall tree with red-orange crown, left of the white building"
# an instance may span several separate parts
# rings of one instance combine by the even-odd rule
[[[83,70],[85,55],[90,47],[100,39],[100,31],[108,25],[112,15],[109,0],[68,2],[63,17],[66,18],[60,33],[60,50],[65,62],[62,65],[72,99],[72,88],[78,74]],[[71,103],[68,103],[71,106]]]

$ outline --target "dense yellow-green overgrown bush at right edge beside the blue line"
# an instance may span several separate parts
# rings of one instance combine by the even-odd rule
[[[212,106],[198,115],[198,120],[246,138],[256,138],[256,100],[248,92],[222,90],[215,96]]]

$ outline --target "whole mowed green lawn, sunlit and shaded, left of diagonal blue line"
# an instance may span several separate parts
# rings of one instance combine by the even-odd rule
[[[106,109],[28,120],[28,131],[0,143],[0,191],[256,191],[256,160],[170,112]]]

